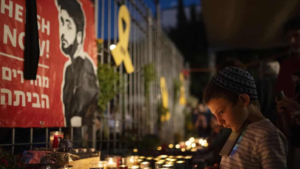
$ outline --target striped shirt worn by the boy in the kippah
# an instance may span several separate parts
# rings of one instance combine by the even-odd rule
[[[221,169],[286,168],[286,137],[268,119],[249,124],[230,155],[223,156]]]

